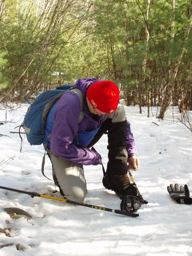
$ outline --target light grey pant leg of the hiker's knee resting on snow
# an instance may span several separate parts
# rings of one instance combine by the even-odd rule
[[[83,165],[58,157],[49,148],[47,153],[52,163],[53,180],[60,194],[68,200],[83,202],[87,194]]]

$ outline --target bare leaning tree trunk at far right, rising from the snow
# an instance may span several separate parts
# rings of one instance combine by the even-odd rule
[[[177,74],[178,74],[178,70],[179,70],[179,66],[180,66],[180,63],[181,63],[181,59],[182,59],[182,56],[183,56],[183,53],[184,53],[184,50],[185,50],[184,45],[185,45],[185,43],[188,39],[188,35],[189,35],[190,29],[191,29],[191,25],[192,25],[192,14],[190,16],[190,22],[189,22],[189,24],[188,24],[188,26],[185,30],[185,39],[184,39],[184,42],[183,42],[182,51],[176,59],[176,63],[175,63],[175,66],[174,66],[173,70],[170,72],[169,81],[166,85],[166,89],[165,89],[165,92],[164,92],[164,98],[163,98],[163,101],[162,101],[161,111],[160,111],[159,116],[157,118],[160,118],[160,119],[164,118],[165,111],[167,110],[167,108],[170,104],[172,90],[174,88],[174,83],[175,83],[175,80],[176,80],[176,77],[177,77]]]

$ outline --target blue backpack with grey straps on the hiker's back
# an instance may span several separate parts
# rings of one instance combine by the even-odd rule
[[[49,111],[56,100],[69,90],[77,94],[80,100],[80,105],[82,106],[82,93],[79,89],[74,89],[73,84],[66,84],[65,86],[60,86],[54,90],[43,92],[29,106],[21,126],[23,126],[27,140],[31,145],[46,145],[48,137],[45,135],[45,126]],[[83,115],[81,110],[78,122],[82,120]]]

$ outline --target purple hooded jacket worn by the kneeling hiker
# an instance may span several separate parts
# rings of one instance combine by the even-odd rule
[[[89,109],[85,103],[87,89],[90,84],[95,83],[96,81],[99,80],[95,78],[79,79],[74,86],[74,88],[81,90],[84,99],[82,105],[84,116],[80,123],[78,123],[80,114],[79,98],[76,94],[69,91],[64,93],[55,103],[53,130],[49,131],[49,133],[52,132],[50,149],[53,154],[84,165],[101,164],[101,157],[98,153],[86,147],[77,147],[73,143],[77,132],[95,130],[101,125],[105,117],[105,115],[101,115],[98,117],[98,121],[95,121],[90,116]],[[133,134],[131,133],[129,122],[127,122],[126,144],[129,156],[137,155],[135,141]]]

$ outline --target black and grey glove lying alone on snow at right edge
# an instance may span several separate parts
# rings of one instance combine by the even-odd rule
[[[189,197],[189,190],[186,184],[184,187],[179,187],[178,184],[170,184],[170,186],[167,186],[167,190],[170,197],[176,200],[176,202],[182,204],[192,204],[192,198]]]

